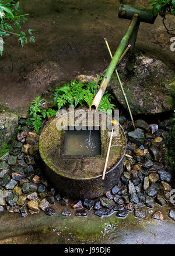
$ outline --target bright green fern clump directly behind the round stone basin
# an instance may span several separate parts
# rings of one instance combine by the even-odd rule
[[[100,77],[98,78],[101,80]],[[82,105],[83,103],[86,103],[90,107],[97,90],[98,87],[96,81],[83,84],[73,80],[70,84],[65,84],[61,88],[55,89],[54,104],[57,104],[58,110],[68,104],[76,107],[78,104]],[[114,104],[111,104],[111,98],[111,94],[105,91],[98,110],[111,113],[115,107]]]

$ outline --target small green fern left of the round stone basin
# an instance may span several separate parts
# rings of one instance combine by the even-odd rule
[[[36,133],[38,133],[43,119],[50,117],[53,117],[56,114],[55,110],[52,109],[42,109],[41,108],[41,97],[38,96],[34,98],[34,100],[31,102],[29,107],[29,118],[27,119],[26,125],[30,126],[32,125],[34,129],[36,130]]]

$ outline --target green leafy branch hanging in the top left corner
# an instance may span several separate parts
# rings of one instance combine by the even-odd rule
[[[35,42],[35,37],[32,36],[34,29],[27,31],[28,36],[20,30],[22,23],[28,21],[27,15],[29,14],[23,14],[23,11],[19,11],[19,1],[0,0],[0,37],[4,38],[5,36],[15,35],[18,37],[22,47],[24,43],[27,43],[28,36],[30,42]],[[5,42],[2,41],[1,43],[5,45]],[[0,54],[2,56],[2,50],[0,50]]]

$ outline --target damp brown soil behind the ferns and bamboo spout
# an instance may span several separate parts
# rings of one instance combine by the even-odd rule
[[[36,43],[20,47],[15,37],[6,39],[0,59],[0,101],[12,110],[28,108],[34,97],[60,80],[78,74],[101,74],[110,63],[103,38],[114,53],[127,29],[128,20],[118,18],[120,4],[147,7],[149,0],[29,0],[20,2],[30,13],[24,29],[36,29]],[[172,18],[167,17],[167,23]],[[151,29],[150,29],[151,27]],[[172,69],[175,52],[162,19],[141,23],[136,52],[157,57]]]

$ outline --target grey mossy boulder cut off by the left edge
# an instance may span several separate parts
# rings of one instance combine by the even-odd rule
[[[0,149],[3,142],[10,141],[17,132],[18,117],[9,112],[0,112]]]

